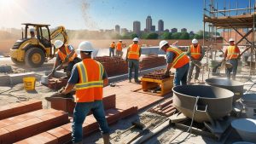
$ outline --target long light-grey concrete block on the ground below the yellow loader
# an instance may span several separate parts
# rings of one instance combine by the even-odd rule
[[[9,74],[9,82],[11,85],[22,84],[23,78],[25,77],[35,77],[35,72],[26,72],[26,73],[18,73],[18,74]]]

